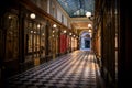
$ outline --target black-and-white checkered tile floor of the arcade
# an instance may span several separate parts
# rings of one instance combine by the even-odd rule
[[[8,88],[98,88],[95,55],[76,51],[8,79]]]

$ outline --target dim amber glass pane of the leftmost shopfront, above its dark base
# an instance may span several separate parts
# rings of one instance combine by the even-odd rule
[[[15,14],[4,15],[6,34],[6,61],[15,59],[19,56],[19,21]]]

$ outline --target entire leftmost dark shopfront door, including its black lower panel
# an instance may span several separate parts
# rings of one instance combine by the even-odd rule
[[[12,76],[19,72],[19,18],[15,13],[6,13],[3,16],[4,30],[4,51],[2,67],[2,75],[6,77]],[[0,58],[1,59],[1,58]]]

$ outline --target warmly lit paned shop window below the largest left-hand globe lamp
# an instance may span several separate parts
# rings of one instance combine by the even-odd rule
[[[37,22],[25,20],[25,46],[28,59],[41,55],[41,25]]]

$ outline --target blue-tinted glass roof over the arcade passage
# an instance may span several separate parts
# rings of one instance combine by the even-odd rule
[[[86,16],[89,11],[94,14],[95,0],[57,0],[70,18]]]

